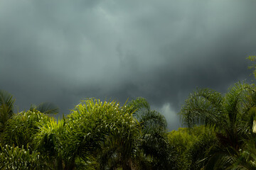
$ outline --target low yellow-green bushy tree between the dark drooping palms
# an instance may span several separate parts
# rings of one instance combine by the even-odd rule
[[[193,128],[178,128],[169,132],[169,145],[174,150],[177,169],[200,169],[206,153],[214,146],[215,134],[212,128],[194,126]],[[207,139],[207,140],[206,140]]]

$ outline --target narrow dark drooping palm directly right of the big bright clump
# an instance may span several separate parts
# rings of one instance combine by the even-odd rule
[[[158,111],[152,111],[145,98],[137,98],[127,104],[134,118],[142,126],[137,155],[138,165],[150,164],[151,169],[174,169],[176,164],[172,157],[166,133],[166,119]],[[153,158],[153,159],[152,159]],[[140,159],[144,160],[141,161]],[[149,169],[149,166],[147,167]]]

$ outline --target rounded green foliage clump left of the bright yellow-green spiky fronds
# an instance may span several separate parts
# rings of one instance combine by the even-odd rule
[[[4,130],[4,143],[14,146],[31,145],[39,131],[38,123],[47,123],[50,117],[38,111],[21,112],[11,118]]]

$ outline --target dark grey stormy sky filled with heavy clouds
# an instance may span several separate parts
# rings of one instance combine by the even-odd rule
[[[197,87],[250,83],[255,0],[0,0],[0,89],[18,111],[139,96],[170,130]]]

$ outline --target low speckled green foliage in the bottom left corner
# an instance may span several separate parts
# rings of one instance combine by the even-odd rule
[[[38,152],[31,152],[23,147],[0,145],[0,169],[46,169],[42,160]]]

